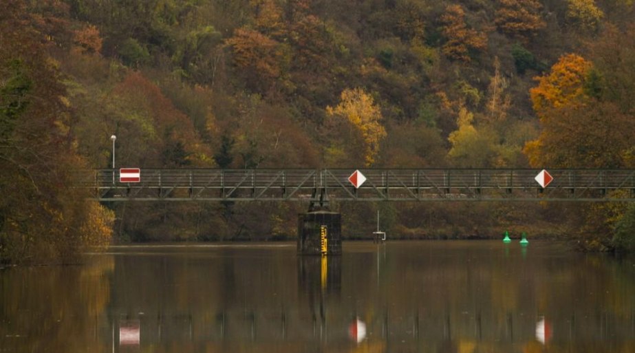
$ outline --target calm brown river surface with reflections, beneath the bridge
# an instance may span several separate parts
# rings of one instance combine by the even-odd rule
[[[531,242],[114,247],[0,270],[0,352],[635,352],[635,261]]]

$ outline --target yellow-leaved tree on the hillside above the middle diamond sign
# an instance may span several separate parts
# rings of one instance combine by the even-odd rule
[[[326,111],[332,118],[347,120],[359,131],[365,145],[365,166],[372,165],[379,153],[379,143],[386,137],[386,129],[380,123],[381,110],[372,96],[361,88],[344,89],[340,103],[336,107],[326,107]]]

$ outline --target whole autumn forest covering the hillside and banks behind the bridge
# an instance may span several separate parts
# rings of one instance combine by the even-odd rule
[[[293,239],[293,203],[99,204],[78,169],[635,169],[633,0],[3,0],[0,261]],[[347,239],[635,250],[635,204],[334,204]]]

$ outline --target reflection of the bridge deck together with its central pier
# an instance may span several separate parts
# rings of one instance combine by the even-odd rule
[[[287,307],[284,302],[271,306],[234,302],[226,308],[207,311],[183,312],[171,308],[131,312],[125,302],[115,301],[110,317],[113,340],[119,341],[118,332],[122,328],[127,330],[132,323],[141,345],[186,342],[354,345],[359,338],[354,336],[357,319],[365,324],[364,340],[383,347],[443,347],[459,341],[496,345],[605,342],[635,337],[635,311],[616,314],[573,308],[550,313],[534,312],[536,308],[511,311],[495,306],[482,310],[476,303],[463,308],[452,308],[450,304],[431,306],[425,297],[408,304],[380,298],[374,303],[348,298],[345,301],[350,307],[342,309],[340,257],[300,257],[297,275],[298,292],[305,299],[301,306],[295,303]]]

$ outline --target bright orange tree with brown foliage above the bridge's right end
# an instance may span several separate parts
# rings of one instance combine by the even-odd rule
[[[581,56],[561,56],[530,90],[542,131],[527,143],[530,164],[581,168],[629,165],[635,123],[619,105],[595,96],[592,63]]]

